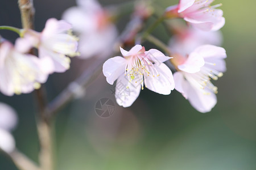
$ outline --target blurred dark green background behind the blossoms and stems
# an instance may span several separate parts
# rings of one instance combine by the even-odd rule
[[[48,18],[60,19],[66,8],[76,5],[70,0],[34,3],[38,31]],[[177,1],[157,3],[164,8]],[[218,103],[212,112],[197,112],[177,91],[163,96],[143,90],[132,107],[124,109],[115,103],[113,116],[98,117],[94,108],[99,99],[108,97],[115,101],[110,91],[113,86],[101,74],[86,89],[85,97],[73,101],[56,117],[58,169],[256,169],[256,2],[216,0],[213,5],[217,3],[223,4],[220,8],[226,19],[221,31],[228,71],[214,82]],[[20,27],[16,1],[1,1],[0,24]],[[122,28],[122,22],[119,25]],[[12,41],[16,38],[14,33],[0,33]],[[168,41],[163,27],[154,33]],[[74,58],[67,73],[51,75],[46,83],[48,99],[59,94],[89,64],[90,60]],[[0,95],[0,101],[10,104],[19,114],[19,125],[14,131],[17,148],[38,162],[34,100],[34,94]],[[2,153],[0,169],[16,169]]]

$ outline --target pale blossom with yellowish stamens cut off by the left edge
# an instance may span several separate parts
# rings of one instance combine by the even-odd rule
[[[12,96],[40,88],[39,83],[48,78],[42,63],[47,61],[23,54],[9,41],[3,41],[0,46],[0,91]]]

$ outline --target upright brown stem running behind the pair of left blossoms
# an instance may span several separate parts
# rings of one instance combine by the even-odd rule
[[[18,0],[20,14],[22,18],[22,27],[24,29],[34,28],[34,6],[32,0]],[[31,54],[34,54],[31,51]],[[36,98],[38,99],[39,107],[39,120],[38,125],[38,135],[40,141],[40,153],[39,162],[42,170],[52,170],[53,169],[53,152],[52,152],[52,135],[51,135],[51,125],[44,112],[46,108],[46,96],[43,88],[35,90]]]

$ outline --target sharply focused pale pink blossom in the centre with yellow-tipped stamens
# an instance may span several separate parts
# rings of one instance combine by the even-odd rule
[[[109,84],[117,80],[115,99],[123,107],[130,107],[139,96],[143,86],[158,94],[168,95],[174,90],[171,70],[163,63],[171,57],[156,49],[145,51],[135,45],[129,52],[120,48],[122,56],[108,59],[103,74]]]

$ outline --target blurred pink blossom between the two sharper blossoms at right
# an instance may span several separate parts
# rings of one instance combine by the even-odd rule
[[[179,28],[177,28],[179,29]],[[222,34],[220,31],[201,31],[200,29],[181,29],[171,37],[169,46],[173,54],[186,56],[200,45],[211,44],[220,46],[222,44]]]

